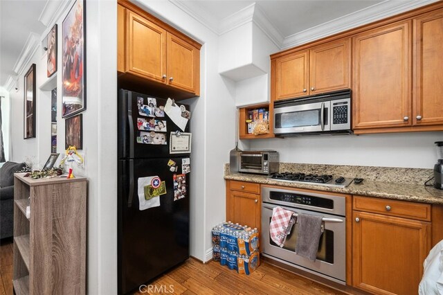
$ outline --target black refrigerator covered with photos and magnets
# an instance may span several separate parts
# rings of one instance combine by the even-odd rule
[[[183,136],[190,123],[180,129],[165,105],[164,98],[118,93],[118,294],[189,257],[190,154],[171,154],[170,136]],[[175,106],[189,117],[188,105]]]

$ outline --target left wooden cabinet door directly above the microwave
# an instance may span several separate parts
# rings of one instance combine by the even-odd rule
[[[276,65],[275,99],[293,98],[308,94],[308,51],[279,57]]]

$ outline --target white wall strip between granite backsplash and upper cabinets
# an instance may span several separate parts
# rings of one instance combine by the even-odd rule
[[[443,132],[305,136],[251,140],[251,148],[277,150],[291,163],[433,168],[442,140]]]

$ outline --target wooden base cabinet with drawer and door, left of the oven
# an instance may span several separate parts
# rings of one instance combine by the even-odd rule
[[[260,233],[260,184],[226,181],[226,221],[251,228]]]

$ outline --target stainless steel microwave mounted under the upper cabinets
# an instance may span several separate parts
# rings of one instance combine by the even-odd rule
[[[274,134],[350,134],[351,90],[274,102]]]

